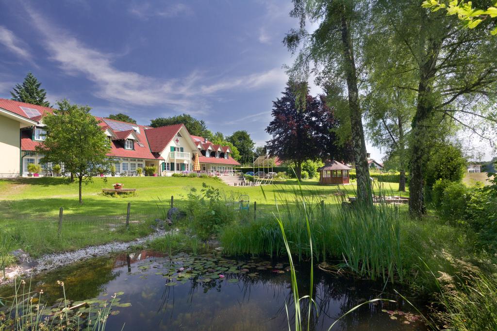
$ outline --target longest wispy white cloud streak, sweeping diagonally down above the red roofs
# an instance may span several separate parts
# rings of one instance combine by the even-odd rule
[[[95,84],[94,95],[111,102],[136,106],[168,105],[177,111],[202,113],[209,97],[235,88],[256,89],[281,84],[286,74],[281,68],[238,77],[217,77],[193,71],[184,79],[159,79],[113,65],[113,56],[91,49],[66,31],[58,29],[36,11],[26,7],[31,22],[43,35],[42,44],[50,59],[71,75],[83,75]]]

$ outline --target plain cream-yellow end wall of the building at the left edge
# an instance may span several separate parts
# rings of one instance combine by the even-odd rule
[[[0,177],[19,176],[19,122],[0,115]]]

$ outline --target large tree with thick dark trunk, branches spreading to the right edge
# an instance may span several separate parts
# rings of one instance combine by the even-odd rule
[[[495,137],[490,134],[491,128],[487,130],[489,123],[496,123],[492,105],[497,88],[497,43],[488,33],[493,25],[485,20],[473,29],[465,29],[454,16],[421,8],[417,1],[376,1],[372,12],[378,27],[375,30],[405,47],[408,63],[413,64],[407,69],[417,77],[397,87],[416,94],[410,139],[409,210],[419,217],[426,211],[426,164],[432,148],[450,132],[445,128],[466,128],[482,139]]]

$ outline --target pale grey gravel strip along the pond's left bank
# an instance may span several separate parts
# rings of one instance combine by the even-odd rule
[[[31,274],[36,275],[42,271],[56,269],[61,266],[70,265],[78,261],[83,261],[99,256],[105,256],[113,252],[123,252],[126,251],[130,246],[143,244],[149,240],[163,237],[165,234],[166,231],[157,230],[147,237],[138,238],[130,242],[111,242],[99,246],[86,247],[73,252],[47,254],[39,259],[28,258],[27,261],[22,265],[16,265],[12,268],[7,268],[5,270],[7,279],[0,277],[0,286],[13,282],[13,280],[17,276]],[[2,276],[2,274],[0,275]]]

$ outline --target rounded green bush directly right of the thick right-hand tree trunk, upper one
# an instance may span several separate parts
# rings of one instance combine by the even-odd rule
[[[461,150],[452,145],[439,147],[430,154],[424,176],[425,185],[431,188],[438,179],[459,182],[465,173],[466,160]]]

